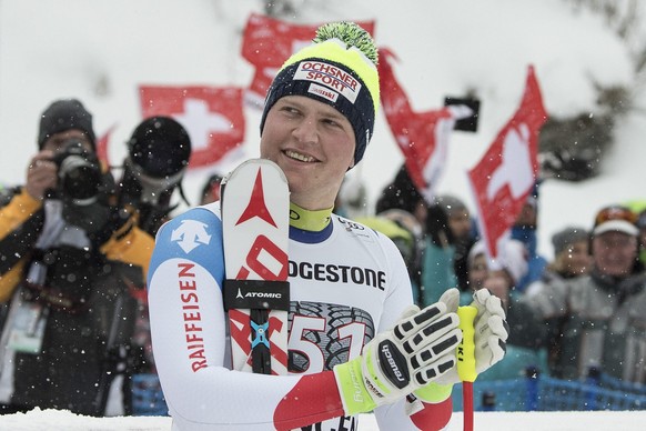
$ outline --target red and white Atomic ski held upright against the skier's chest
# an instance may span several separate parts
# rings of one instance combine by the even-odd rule
[[[224,304],[233,369],[287,373],[290,191],[277,164],[252,159],[222,182]]]

